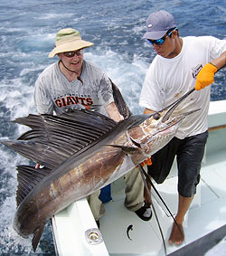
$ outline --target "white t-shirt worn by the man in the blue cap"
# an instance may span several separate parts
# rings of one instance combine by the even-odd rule
[[[178,100],[195,86],[196,76],[207,62],[226,51],[226,40],[212,36],[184,37],[182,51],[173,59],[156,55],[141,90],[139,104],[146,109],[161,110]],[[207,130],[210,90],[195,90],[175,110],[174,115],[201,109],[183,120],[175,137],[184,138]]]

